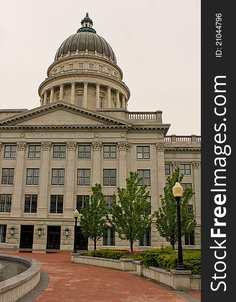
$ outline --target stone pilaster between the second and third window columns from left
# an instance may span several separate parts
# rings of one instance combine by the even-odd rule
[[[52,143],[50,141],[42,141],[42,151],[41,151],[41,168],[40,168],[40,178],[39,178],[39,196],[38,196],[38,209],[37,218],[47,218],[48,207],[47,204],[50,203],[48,196],[49,187],[49,155]]]

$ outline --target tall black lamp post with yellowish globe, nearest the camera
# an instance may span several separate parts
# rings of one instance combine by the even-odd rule
[[[177,225],[178,225],[178,264],[176,270],[185,270],[183,264],[183,251],[182,251],[182,239],[181,239],[181,217],[180,217],[180,199],[183,195],[183,187],[179,182],[175,183],[175,186],[172,188],[173,195],[176,199],[176,208],[177,208]]]

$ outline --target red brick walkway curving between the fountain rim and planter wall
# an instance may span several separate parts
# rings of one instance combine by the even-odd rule
[[[1,253],[39,260],[50,277],[48,287],[37,302],[186,302],[163,286],[135,275],[102,267],[70,262],[70,252]],[[200,292],[188,292],[200,299]]]

